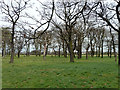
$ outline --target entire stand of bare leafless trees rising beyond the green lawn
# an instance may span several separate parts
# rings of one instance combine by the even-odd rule
[[[29,56],[30,45],[34,45],[36,56],[41,56],[41,50],[43,50],[45,58],[50,49],[52,55],[55,54],[55,56],[57,54],[59,57],[61,54],[64,57],[69,55],[70,62],[74,62],[76,54],[78,59],[82,58],[83,49],[85,49],[86,59],[88,59],[88,55],[94,57],[95,54],[96,57],[103,58],[106,46],[108,56],[111,58],[113,53],[115,61],[117,61],[116,45],[118,44],[119,47],[120,43],[118,9],[120,1],[113,5],[101,0],[96,2],[82,0],[79,2],[73,0],[54,2],[53,0],[52,3],[45,4],[38,0],[37,3],[42,6],[42,9],[37,6],[35,9],[36,15],[39,17],[26,12],[24,18],[28,18],[32,22],[21,23],[19,22],[21,13],[26,9],[28,1],[14,1],[8,5],[4,0],[1,1],[1,10],[7,16],[7,21],[11,23],[10,44],[7,43],[7,49],[11,49],[10,63],[13,63],[15,48],[18,57],[23,48],[26,50],[26,55]],[[16,32],[17,25],[21,32]],[[113,30],[118,32],[118,37],[113,33]],[[116,43],[116,38],[118,38],[118,43]],[[6,52],[6,42],[9,42],[4,39],[3,56]],[[120,53],[119,48],[118,50]]]

